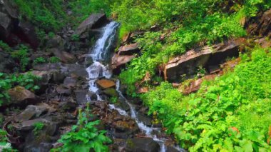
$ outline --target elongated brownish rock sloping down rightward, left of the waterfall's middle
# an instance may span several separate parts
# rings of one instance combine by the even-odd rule
[[[73,56],[73,54],[69,54],[66,51],[61,51],[56,48],[50,49],[50,51],[53,52],[53,54],[58,57],[64,64],[75,64],[77,61],[76,57]]]

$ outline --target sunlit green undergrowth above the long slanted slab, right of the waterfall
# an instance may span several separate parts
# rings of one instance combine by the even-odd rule
[[[127,7],[129,4],[132,7]],[[257,11],[270,6],[270,1],[263,0],[235,1],[232,4],[230,1],[220,0],[155,0],[139,4],[123,2],[116,9],[119,14],[126,11],[126,14],[118,18],[122,23],[121,32],[123,28],[133,31],[140,27],[144,30],[155,24],[160,29],[148,31],[136,39],[142,55],[134,59],[128,69],[121,73],[121,81],[128,84],[128,93],[132,93],[134,84],[140,81],[147,71],[155,75],[155,69],[166,63],[170,57],[183,54],[196,46],[245,36],[245,19],[256,16]]]

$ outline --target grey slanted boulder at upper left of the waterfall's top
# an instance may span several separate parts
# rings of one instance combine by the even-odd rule
[[[106,14],[91,14],[85,21],[83,21],[75,31],[75,34],[81,35],[91,29],[96,29],[103,26],[107,21]]]

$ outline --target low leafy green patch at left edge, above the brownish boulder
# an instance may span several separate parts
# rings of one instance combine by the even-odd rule
[[[39,77],[32,74],[21,74],[21,75],[8,75],[0,73],[0,106],[2,104],[9,103],[9,94],[7,91],[15,86],[24,86],[26,89],[35,91],[39,89],[36,86],[36,82],[39,81]]]

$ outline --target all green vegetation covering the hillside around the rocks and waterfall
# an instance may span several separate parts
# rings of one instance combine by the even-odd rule
[[[133,40],[140,47],[140,55],[127,64],[118,77],[126,86],[126,94],[143,101],[153,121],[161,123],[181,148],[270,151],[270,47],[245,46],[235,69],[224,69],[223,76],[204,81],[195,93],[185,95],[158,74],[158,69],[170,59],[190,49],[240,37],[253,39],[246,31],[249,21],[270,9],[270,0],[14,0],[14,4],[19,9],[20,19],[36,27],[41,41],[52,39],[67,26],[76,29],[89,14],[100,12],[121,23],[118,44],[124,36],[142,32]],[[77,35],[73,37],[79,41]],[[266,41],[270,41],[270,37],[267,36]],[[16,64],[14,73],[0,73],[0,106],[9,104],[11,96],[7,92],[11,88],[24,86],[32,92],[39,89],[37,82],[41,78],[20,73],[31,71],[37,64],[60,61],[54,55],[31,61],[35,51],[23,44],[11,48],[0,41],[0,48]],[[136,92],[138,83],[146,74],[157,83],[144,83],[149,91],[139,94]],[[185,79],[182,81],[185,84]],[[77,125],[59,140],[63,151],[86,147],[108,151],[105,143],[110,144],[111,139],[105,136],[106,131],[96,128],[100,121],[88,120],[91,119],[88,108],[89,105],[85,112],[75,112],[79,113]],[[0,129],[1,142],[8,142],[6,134]],[[52,151],[61,151],[61,148]]]

